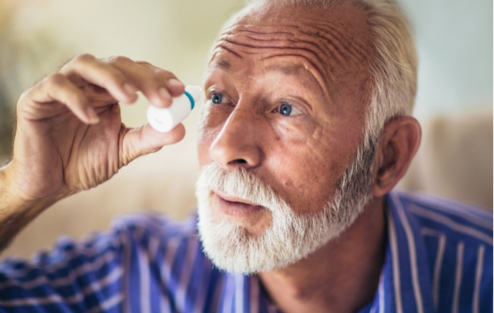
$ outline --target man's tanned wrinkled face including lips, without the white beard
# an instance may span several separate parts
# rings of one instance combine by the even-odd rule
[[[200,166],[244,168],[294,214],[314,215],[362,140],[369,89],[367,25],[335,6],[265,5],[219,36],[207,69]],[[207,195],[214,220],[249,236],[266,232],[271,210],[238,195]]]

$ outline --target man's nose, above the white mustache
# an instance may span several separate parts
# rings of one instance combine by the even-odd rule
[[[234,110],[214,139],[209,153],[224,168],[255,168],[260,165],[262,157],[257,143],[260,135],[251,113]]]

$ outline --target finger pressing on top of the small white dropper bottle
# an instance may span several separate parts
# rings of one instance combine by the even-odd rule
[[[185,87],[173,73],[145,62],[129,62],[125,59],[111,63],[124,73],[141,90],[149,102],[157,107],[168,107],[172,98],[182,95]]]

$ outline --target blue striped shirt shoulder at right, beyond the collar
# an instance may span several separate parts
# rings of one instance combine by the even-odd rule
[[[417,253],[424,253],[438,311],[492,312],[491,212],[403,190],[392,191],[388,202],[392,214],[401,214],[397,223],[414,232]]]

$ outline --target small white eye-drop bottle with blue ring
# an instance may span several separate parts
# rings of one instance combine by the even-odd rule
[[[148,107],[148,122],[152,128],[160,133],[168,133],[186,118],[198,102],[201,88],[198,86],[186,86],[185,93],[173,98],[172,105],[168,108]]]

